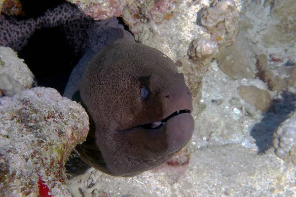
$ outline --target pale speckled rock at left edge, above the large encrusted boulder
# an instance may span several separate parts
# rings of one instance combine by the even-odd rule
[[[25,89],[32,88],[34,75],[24,60],[8,47],[0,47],[0,75],[6,74],[19,82]]]

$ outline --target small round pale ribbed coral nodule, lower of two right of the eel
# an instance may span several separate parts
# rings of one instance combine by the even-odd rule
[[[205,60],[217,52],[216,44],[208,39],[198,38],[191,42],[188,56],[192,60]]]

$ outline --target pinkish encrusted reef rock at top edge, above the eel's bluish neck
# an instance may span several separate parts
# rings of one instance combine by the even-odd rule
[[[119,17],[125,5],[132,0],[68,0],[94,20]]]

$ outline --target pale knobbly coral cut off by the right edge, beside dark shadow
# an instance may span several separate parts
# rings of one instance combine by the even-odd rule
[[[283,122],[274,132],[272,145],[275,148],[275,154],[281,159],[291,157],[292,162],[296,164],[296,147],[294,147],[295,140],[296,113]]]

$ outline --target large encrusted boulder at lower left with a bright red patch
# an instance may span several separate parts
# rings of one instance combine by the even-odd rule
[[[1,98],[2,195],[35,197],[50,191],[52,196],[71,197],[64,164],[88,130],[85,110],[52,88]]]

